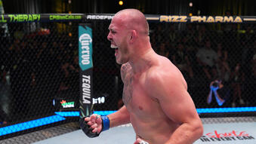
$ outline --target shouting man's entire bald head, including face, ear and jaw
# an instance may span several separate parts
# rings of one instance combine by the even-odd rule
[[[153,51],[148,34],[149,25],[140,11],[125,9],[116,13],[109,24],[107,35],[110,46],[116,48],[116,62],[127,63]]]

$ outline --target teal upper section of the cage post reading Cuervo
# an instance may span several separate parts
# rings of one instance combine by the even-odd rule
[[[79,66],[82,71],[92,68],[92,34],[88,26],[79,26]]]

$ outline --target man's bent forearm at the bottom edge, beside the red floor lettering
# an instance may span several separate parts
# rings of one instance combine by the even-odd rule
[[[192,144],[195,142],[202,136],[202,123],[196,123],[198,124],[181,124],[165,144]]]

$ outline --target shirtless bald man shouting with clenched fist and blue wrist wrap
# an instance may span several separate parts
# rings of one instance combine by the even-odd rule
[[[144,15],[135,9],[119,11],[107,38],[116,50],[116,62],[122,64],[125,106],[101,118],[85,118],[89,130],[98,136],[109,127],[131,123],[136,133],[134,144],[189,144],[199,139],[202,121],[187,83],[170,60],[153,51]]]

